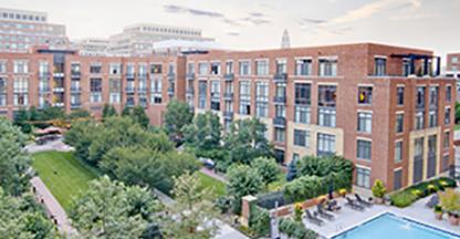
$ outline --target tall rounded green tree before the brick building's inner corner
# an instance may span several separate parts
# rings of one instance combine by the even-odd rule
[[[172,100],[166,106],[165,127],[169,137],[178,142],[182,139],[182,128],[191,123],[194,114],[185,102]]]

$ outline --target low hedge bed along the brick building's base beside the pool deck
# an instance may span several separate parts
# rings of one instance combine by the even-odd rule
[[[446,185],[442,185],[441,181],[445,181]],[[428,186],[435,186],[433,189],[429,189]],[[416,185],[412,185],[401,191],[395,193],[390,196],[391,205],[404,208],[408,207],[420,198],[427,197],[438,190],[443,190],[445,188],[457,187],[457,183],[452,178],[440,177],[429,181],[422,181]]]

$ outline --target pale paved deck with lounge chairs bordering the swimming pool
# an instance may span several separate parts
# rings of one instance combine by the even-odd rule
[[[366,208],[364,211],[356,211],[348,206],[344,206],[345,200],[341,198],[338,199],[338,202],[342,206],[342,209],[341,212],[333,214],[335,216],[335,220],[328,221],[323,219],[325,224],[318,227],[304,218],[303,224],[306,228],[318,232],[321,238],[332,238],[375,217],[390,212],[398,217],[404,217],[454,235],[460,235],[460,226],[451,226],[447,220],[447,215],[445,215],[442,220],[437,220],[432,209],[425,207],[425,204],[429,200],[429,198],[430,197],[420,199],[410,207],[402,209],[384,205],[374,205],[370,208]],[[313,211],[316,210],[316,208],[310,208],[310,210]]]

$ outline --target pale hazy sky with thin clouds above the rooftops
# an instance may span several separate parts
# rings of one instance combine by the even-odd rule
[[[229,49],[378,42],[460,51],[460,0],[0,0],[39,10],[71,39],[106,38],[138,22],[202,29]]]

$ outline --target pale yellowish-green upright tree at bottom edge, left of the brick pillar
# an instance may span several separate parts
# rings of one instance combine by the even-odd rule
[[[212,238],[218,231],[215,216],[218,214],[211,201],[212,193],[203,187],[197,175],[186,173],[175,178],[176,204],[171,216],[164,221],[166,238]]]

